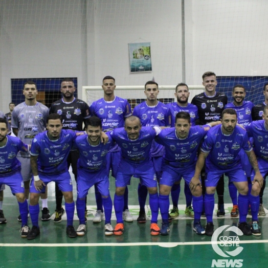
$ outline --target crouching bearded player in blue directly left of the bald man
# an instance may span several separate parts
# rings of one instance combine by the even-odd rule
[[[85,197],[88,190],[96,185],[102,196],[103,207],[105,212],[105,235],[113,235],[114,229],[111,226],[111,210],[113,203],[109,193],[109,177],[106,172],[106,154],[113,144],[113,140],[109,137],[108,142],[104,145],[101,143],[101,119],[93,116],[86,120],[87,135],[77,137],[75,145],[79,150],[80,158],[77,163],[77,200],[76,210],[79,218],[79,227],[76,231],[77,235],[85,234],[85,218],[84,207]]]

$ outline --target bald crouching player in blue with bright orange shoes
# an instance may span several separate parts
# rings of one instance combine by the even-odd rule
[[[122,212],[124,207],[124,191],[133,174],[140,177],[142,185],[149,192],[149,205],[152,213],[151,235],[159,235],[158,220],[158,191],[157,178],[150,157],[151,144],[155,136],[164,127],[142,127],[141,121],[136,116],[130,116],[125,120],[124,128],[116,128],[110,132],[111,138],[121,148],[121,159],[116,174],[116,193],[114,207],[117,225],[115,235],[122,235],[124,230]]]

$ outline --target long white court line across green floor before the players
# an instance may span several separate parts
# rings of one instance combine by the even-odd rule
[[[217,242],[218,244],[220,241]],[[239,244],[250,243],[268,243],[268,240],[244,240],[239,241]],[[141,245],[159,245],[163,248],[174,248],[177,245],[206,245],[211,244],[211,241],[200,242],[140,242],[140,243],[34,243],[34,244],[14,244],[14,243],[0,243],[0,247],[137,247]]]

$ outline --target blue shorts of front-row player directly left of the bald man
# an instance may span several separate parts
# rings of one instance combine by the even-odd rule
[[[106,169],[97,172],[87,172],[84,169],[77,169],[77,198],[85,198],[88,190],[96,184],[102,196],[108,196],[109,178]]]

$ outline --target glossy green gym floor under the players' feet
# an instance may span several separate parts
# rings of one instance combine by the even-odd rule
[[[73,180],[74,181],[74,180]],[[110,177],[110,194],[113,199],[115,180]],[[185,196],[184,182],[181,185],[179,201],[180,216],[172,221],[170,233],[167,236],[150,235],[150,211],[146,224],[138,224],[139,213],[137,187],[138,179],[132,178],[129,186],[129,209],[133,214],[133,222],[125,222],[122,236],[105,236],[104,222],[93,224],[95,213],[94,189],[90,189],[87,197],[88,220],[85,236],[69,238],[66,235],[65,215],[59,224],[53,220],[39,221],[40,236],[34,240],[20,237],[20,223],[17,221],[18,205],[10,188],[4,192],[3,210],[7,224],[0,225],[0,267],[267,267],[268,252],[268,221],[260,217],[261,236],[239,236],[239,246],[242,252],[236,257],[221,257],[212,248],[211,237],[199,236],[192,230],[193,219],[184,215]],[[226,179],[226,186],[228,185]],[[74,189],[76,184],[74,182]],[[267,191],[264,191],[264,207],[267,202]],[[54,183],[49,184],[49,209],[51,215],[55,209]],[[76,191],[74,191],[76,200]],[[216,202],[217,203],[217,200]],[[226,216],[217,218],[214,215],[214,230],[227,225],[237,226],[238,218],[231,218],[231,199],[225,190]],[[148,204],[148,197],[147,197]],[[266,210],[266,213],[268,211]],[[248,222],[251,221],[248,216]],[[40,216],[39,216],[40,218]],[[31,220],[29,218],[29,226]],[[206,219],[201,221],[206,225]],[[113,212],[111,224],[116,225]],[[161,226],[161,216],[159,216]],[[75,229],[79,226],[77,216],[74,220]],[[227,227],[226,227],[227,228]],[[222,233],[223,234],[223,233]],[[223,235],[234,236],[227,232]],[[233,251],[237,246],[221,247],[222,251]],[[230,254],[231,255],[231,254]],[[214,260],[214,261],[213,261]],[[223,261],[222,261],[223,260]],[[216,263],[216,264],[215,264]]]

